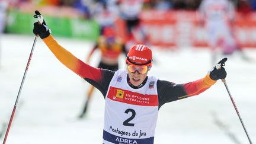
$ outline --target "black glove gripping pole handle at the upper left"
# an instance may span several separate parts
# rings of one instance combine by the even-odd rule
[[[39,21],[43,21],[43,23],[40,24],[40,22],[34,23],[33,33],[35,35],[39,35],[41,39],[44,39],[48,37],[51,33],[50,29],[47,27],[47,24],[43,20],[43,16],[41,16],[39,11],[35,11],[34,18],[38,18]]]

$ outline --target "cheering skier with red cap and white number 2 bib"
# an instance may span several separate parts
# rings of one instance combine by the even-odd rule
[[[36,11],[34,17],[40,13]],[[34,23],[33,33],[71,71],[99,89],[105,98],[103,143],[152,144],[159,108],[165,103],[198,95],[218,79],[226,78],[223,67],[212,69],[204,78],[186,84],[148,76],[152,68],[152,51],[143,44],[130,48],[127,70],[109,71],[89,66],[60,46],[50,34],[45,21]]]

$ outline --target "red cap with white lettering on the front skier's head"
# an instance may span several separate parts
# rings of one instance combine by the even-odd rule
[[[143,44],[133,46],[127,54],[126,63],[135,66],[152,66],[152,51]]]

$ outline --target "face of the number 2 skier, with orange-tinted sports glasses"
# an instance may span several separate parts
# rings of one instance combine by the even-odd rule
[[[137,67],[137,69],[139,70],[141,68]],[[139,86],[140,84],[142,84],[142,82],[145,80],[146,76],[148,75],[148,71],[149,71],[149,69],[147,69],[145,73],[139,73],[139,71],[131,72],[128,68],[127,68],[127,70],[128,70],[130,82],[134,86]]]

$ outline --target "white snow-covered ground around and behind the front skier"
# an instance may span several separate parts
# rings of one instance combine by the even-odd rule
[[[91,42],[56,38],[79,59],[84,60]],[[33,44],[33,36],[5,34],[0,38],[0,123],[8,123],[17,98]],[[247,49],[256,59],[256,50]],[[92,56],[97,66],[100,54]],[[153,49],[155,63],[149,75],[177,84],[194,81],[210,70],[209,51],[184,48]],[[123,58],[123,59],[122,59]],[[124,67],[124,56],[120,59]],[[252,142],[256,142],[256,63],[238,55],[226,62],[228,87],[244,120]],[[56,144],[102,143],[104,98],[94,92],[88,116],[76,119],[85,101],[89,84],[63,66],[38,39],[24,82],[7,143]],[[3,126],[0,126],[0,132]],[[4,132],[5,134],[5,132]],[[0,138],[0,142],[4,136]],[[228,93],[218,81],[196,97],[165,104],[159,111],[155,143],[232,144],[249,143]]]

